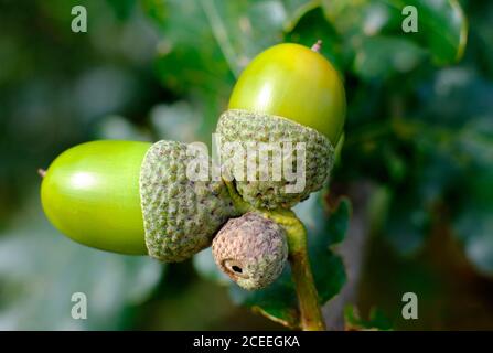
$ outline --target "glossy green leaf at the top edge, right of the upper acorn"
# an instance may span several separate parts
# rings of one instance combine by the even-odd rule
[[[417,33],[403,31],[403,21],[407,15],[401,11],[407,6],[417,9]],[[400,57],[400,61],[395,62],[399,65],[390,65],[388,69],[415,66],[424,57],[416,46],[426,50],[438,65],[454,63],[464,52],[468,25],[461,7],[454,0],[323,0],[323,7],[331,23],[353,47],[355,61],[361,60],[358,57],[365,55],[371,46],[378,45],[367,40],[381,35],[393,39],[387,40],[385,49],[376,49],[379,55],[386,52],[389,57]],[[396,44],[399,41],[401,44]],[[408,53],[400,56],[400,51]],[[407,61],[404,55],[411,57]],[[355,64],[355,72],[362,73],[357,69],[358,66],[361,65]],[[379,68],[383,69],[384,66]],[[374,74],[378,75],[382,73]]]

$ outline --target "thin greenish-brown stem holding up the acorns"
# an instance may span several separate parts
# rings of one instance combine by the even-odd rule
[[[325,330],[325,322],[319,304],[319,295],[310,268],[307,229],[303,223],[291,210],[256,210],[238,195],[232,182],[226,182],[226,186],[238,212],[259,212],[285,228],[288,238],[291,276],[300,309],[301,329],[303,331]]]

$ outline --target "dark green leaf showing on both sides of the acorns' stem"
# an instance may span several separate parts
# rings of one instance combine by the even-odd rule
[[[296,206],[296,212],[306,224],[310,264],[319,291],[321,304],[334,297],[345,282],[344,265],[332,247],[344,239],[351,214],[351,203],[342,199],[336,208],[326,215],[321,194]],[[299,327],[299,312],[291,270],[287,266],[282,275],[269,287],[246,291],[237,286],[231,289],[233,300],[253,308],[269,319],[291,328]]]

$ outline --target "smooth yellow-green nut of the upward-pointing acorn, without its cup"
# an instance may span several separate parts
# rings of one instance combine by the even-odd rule
[[[335,147],[345,120],[344,86],[317,50],[283,43],[261,52],[236,82],[228,109],[290,119],[315,129]]]

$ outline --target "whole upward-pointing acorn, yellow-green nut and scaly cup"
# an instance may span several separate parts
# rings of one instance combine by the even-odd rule
[[[337,72],[318,49],[285,43],[260,53],[218,120],[224,174],[254,207],[290,208],[329,178],[346,103]]]

